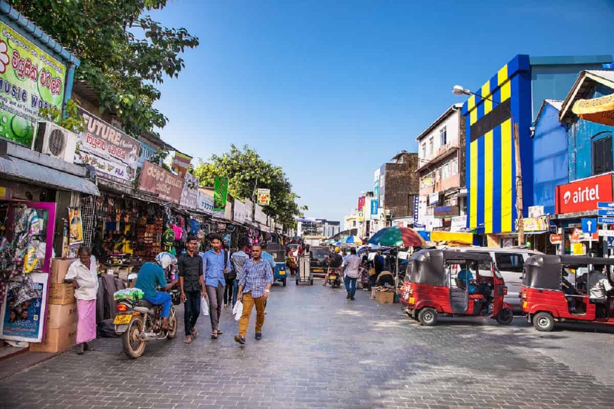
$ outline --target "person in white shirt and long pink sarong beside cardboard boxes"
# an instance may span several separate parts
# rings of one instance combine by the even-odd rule
[[[89,247],[79,247],[79,258],[68,267],[64,282],[72,283],[77,299],[77,354],[93,351],[89,342],[96,339],[98,266]]]

